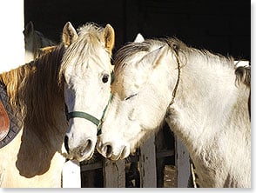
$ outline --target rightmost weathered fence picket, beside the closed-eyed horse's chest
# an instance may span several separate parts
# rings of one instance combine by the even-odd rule
[[[189,177],[191,175],[189,154],[178,136],[175,136],[175,142],[175,165],[177,170],[177,185],[178,188],[187,188],[189,183]]]

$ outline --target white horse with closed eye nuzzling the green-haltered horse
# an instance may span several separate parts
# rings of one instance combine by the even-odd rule
[[[250,76],[235,72],[232,57],[178,39],[138,38],[118,50],[114,65],[97,144],[103,156],[124,159],[166,120],[192,157],[199,187],[251,187]]]

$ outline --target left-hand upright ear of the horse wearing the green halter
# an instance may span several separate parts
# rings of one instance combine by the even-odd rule
[[[77,40],[77,31],[74,29],[70,22],[64,25],[62,41],[65,46],[69,46],[75,40]]]

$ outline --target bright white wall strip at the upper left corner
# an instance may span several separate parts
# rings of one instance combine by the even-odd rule
[[[0,1],[0,73],[24,64],[24,1]]]

